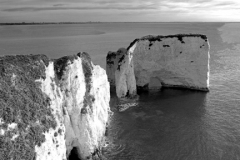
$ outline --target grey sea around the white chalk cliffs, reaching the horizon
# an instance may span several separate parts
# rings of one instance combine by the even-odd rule
[[[112,93],[106,160],[240,160],[240,23],[85,23],[0,26],[0,55],[108,51],[146,35],[200,33],[210,43],[210,92],[164,88],[118,112]]]

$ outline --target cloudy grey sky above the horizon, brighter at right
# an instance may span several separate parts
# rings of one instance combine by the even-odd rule
[[[240,22],[240,0],[0,0],[6,22]]]

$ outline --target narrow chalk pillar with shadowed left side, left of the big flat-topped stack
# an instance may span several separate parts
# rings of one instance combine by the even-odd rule
[[[115,85],[118,97],[134,97],[136,80],[132,55],[125,48],[109,52],[106,59],[106,70],[111,85]]]

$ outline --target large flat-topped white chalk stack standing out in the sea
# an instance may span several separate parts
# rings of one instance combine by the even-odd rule
[[[209,48],[205,35],[149,35],[135,39],[126,49],[124,60],[121,58],[115,60],[114,56],[108,55],[106,68],[108,70],[112,67],[109,64],[109,57],[112,57],[111,62],[117,66],[114,73],[117,93],[119,90],[125,91],[122,88],[134,88],[132,85],[144,90],[179,87],[209,91]],[[131,67],[134,70],[134,73],[131,73],[134,74],[136,84],[129,81],[129,78],[123,78],[129,74],[119,75],[121,70],[130,72]],[[108,76],[108,79],[114,81],[111,80],[113,76]],[[128,93],[127,90],[117,95],[123,97]]]

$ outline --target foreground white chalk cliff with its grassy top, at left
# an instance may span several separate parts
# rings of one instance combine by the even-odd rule
[[[0,159],[91,159],[109,114],[105,71],[86,53],[0,58]]]

